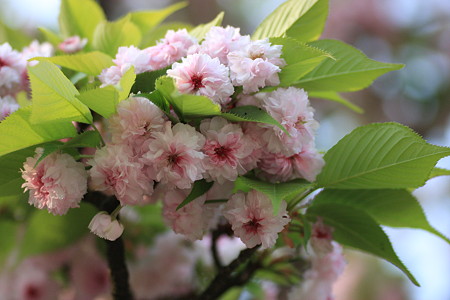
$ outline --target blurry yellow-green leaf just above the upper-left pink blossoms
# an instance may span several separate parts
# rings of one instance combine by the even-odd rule
[[[139,45],[141,38],[141,31],[128,17],[98,24],[94,32],[93,45],[96,50],[115,56],[119,47]]]

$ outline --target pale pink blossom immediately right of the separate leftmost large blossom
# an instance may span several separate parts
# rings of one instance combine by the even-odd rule
[[[134,159],[132,150],[124,145],[107,145],[88,161],[92,189],[115,195],[122,205],[146,203],[153,193],[153,181],[144,173],[144,165]]]

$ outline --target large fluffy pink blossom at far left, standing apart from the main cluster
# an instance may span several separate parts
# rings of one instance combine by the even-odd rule
[[[54,215],[64,215],[69,208],[79,207],[87,192],[87,172],[72,156],[57,152],[36,166],[42,153],[43,149],[37,148],[36,155],[25,161],[22,188],[30,191],[28,203],[39,209],[47,208]]]

